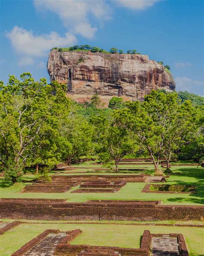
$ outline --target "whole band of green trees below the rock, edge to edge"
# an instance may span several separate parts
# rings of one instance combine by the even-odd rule
[[[203,99],[187,93],[152,90],[144,102],[113,97],[101,108],[99,96],[79,104],[66,86],[30,73],[0,83],[0,171],[10,184],[26,171],[48,179],[59,162],[96,156],[115,166],[123,157],[203,160]]]

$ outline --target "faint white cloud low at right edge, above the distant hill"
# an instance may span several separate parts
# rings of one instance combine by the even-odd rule
[[[189,93],[196,93],[200,91],[202,94],[204,90],[204,81],[193,80],[189,77],[176,77],[176,90],[188,91]]]

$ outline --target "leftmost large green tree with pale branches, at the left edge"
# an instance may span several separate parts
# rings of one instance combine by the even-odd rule
[[[23,73],[21,80],[10,76],[8,85],[0,88],[0,162],[12,184],[22,176],[47,112],[46,80],[34,82],[30,73]]]

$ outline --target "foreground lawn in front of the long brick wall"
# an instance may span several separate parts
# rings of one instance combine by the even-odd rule
[[[140,237],[143,231],[150,230],[151,233],[182,233],[185,236],[190,256],[204,255],[202,241],[204,240],[204,229],[200,227],[158,227],[158,226],[134,226],[134,225],[111,225],[106,224],[64,224],[46,221],[25,223],[7,231],[0,237],[0,255],[9,256],[22,245],[36,237],[46,229],[59,229],[62,231],[80,229],[82,234],[72,244],[89,244],[98,246],[120,246],[139,248]],[[12,241],[12,243],[11,243]]]

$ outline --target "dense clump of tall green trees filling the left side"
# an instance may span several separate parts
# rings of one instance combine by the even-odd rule
[[[0,164],[12,184],[25,166],[57,163],[56,134],[70,106],[59,83],[35,82],[30,73],[20,77],[10,76],[0,88]]]

